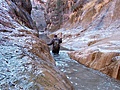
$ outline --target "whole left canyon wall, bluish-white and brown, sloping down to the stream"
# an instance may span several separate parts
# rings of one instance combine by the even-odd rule
[[[0,89],[73,90],[37,30],[30,29],[30,11],[12,1],[0,0]]]

